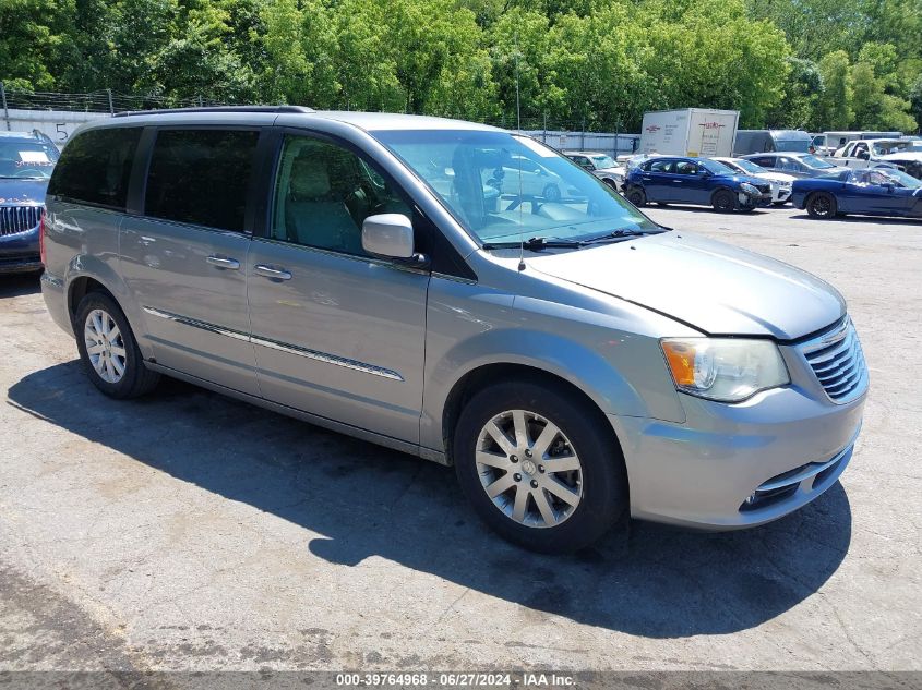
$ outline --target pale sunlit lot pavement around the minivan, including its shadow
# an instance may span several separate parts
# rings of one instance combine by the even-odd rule
[[[649,213],[848,299],[872,391],[819,500],[529,555],[450,469],[175,382],[104,398],[0,278],[0,670],[922,670],[922,225]]]

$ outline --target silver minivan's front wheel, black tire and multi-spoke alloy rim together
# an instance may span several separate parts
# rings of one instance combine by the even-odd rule
[[[542,553],[601,537],[626,507],[624,461],[604,419],[558,386],[500,383],[475,395],[454,436],[455,471],[480,518]]]

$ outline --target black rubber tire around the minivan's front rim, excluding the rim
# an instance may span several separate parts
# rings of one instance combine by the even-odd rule
[[[499,499],[505,500],[506,508],[514,512],[514,497],[520,492],[526,492],[528,498],[523,504],[528,507],[527,519],[532,523],[540,521],[543,525],[531,526],[514,520],[488,496],[486,487],[498,479],[505,480],[511,474],[516,475],[513,470],[494,470],[486,465],[478,468],[477,452],[481,432],[486,433],[487,424],[498,415],[513,410],[525,410],[540,415],[541,421],[554,424],[562,434],[555,437],[558,443],[551,446],[548,453],[542,458],[531,458],[530,463],[525,458],[519,461],[512,460],[513,456],[508,456],[511,462],[516,462],[514,465],[507,463],[508,467],[520,468],[517,474],[519,480],[506,492],[499,494]],[[531,424],[538,425],[529,428],[529,443],[532,446],[540,438],[541,421],[530,421]],[[624,459],[614,434],[607,431],[608,428],[608,422],[598,410],[590,408],[585,400],[563,386],[549,386],[537,380],[493,384],[468,401],[455,427],[453,458],[462,491],[483,522],[514,544],[547,554],[584,548],[608,532],[627,507]],[[506,436],[506,440],[510,438]],[[578,456],[580,465],[582,481],[574,481],[573,485],[582,487],[582,497],[575,507],[554,498],[553,494],[544,488],[546,481],[565,479],[567,475],[556,474],[550,471],[550,468],[544,474],[544,467],[536,464],[542,459],[546,463],[553,461],[552,453],[567,447],[562,446],[564,441],[568,443],[570,448],[570,451],[565,452]],[[504,453],[495,457],[501,462],[507,460]],[[540,474],[535,473],[536,469]],[[483,475],[481,471],[484,472]],[[574,474],[575,472],[570,476]],[[515,480],[515,476],[506,481],[511,480]],[[547,526],[539,515],[536,501],[538,494],[544,501],[556,501],[555,516],[563,515],[566,510],[570,510],[568,515],[553,526]],[[558,513],[558,508],[563,512]]]

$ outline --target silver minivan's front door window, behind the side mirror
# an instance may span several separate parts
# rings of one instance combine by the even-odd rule
[[[409,207],[393,183],[349,149],[286,135],[278,161],[272,237],[283,242],[366,256],[362,223]]]

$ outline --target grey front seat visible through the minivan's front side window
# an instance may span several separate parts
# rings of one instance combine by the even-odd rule
[[[333,191],[327,161],[300,154],[291,164],[285,220],[288,239],[299,244],[363,254],[360,226],[343,195]]]

